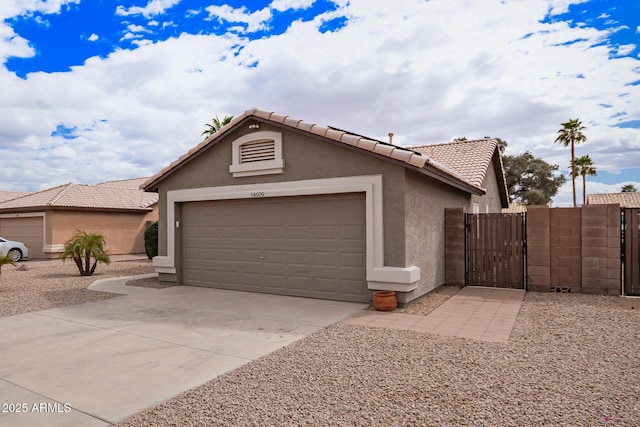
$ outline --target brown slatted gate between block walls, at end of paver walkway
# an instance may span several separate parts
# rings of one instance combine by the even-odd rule
[[[467,286],[526,289],[526,215],[467,214]]]

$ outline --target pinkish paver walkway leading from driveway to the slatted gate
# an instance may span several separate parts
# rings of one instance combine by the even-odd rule
[[[524,295],[520,289],[466,287],[427,316],[368,310],[344,323],[507,342]]]

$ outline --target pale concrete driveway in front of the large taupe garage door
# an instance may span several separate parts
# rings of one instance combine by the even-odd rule
[[[104,426],[366,305],[176,286],[0,318],[0,425]]]

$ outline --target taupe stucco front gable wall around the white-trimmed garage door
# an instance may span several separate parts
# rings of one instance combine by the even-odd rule
[[[386,159],[362,154],[354,149],[318,140],[308,135],[287,131],[263,124],[260,131],[282,132],[284,171],[276,175],[234,178],[229,172],[231,142],[249,129],[237,129],[224,136],[185,167],[175,171],[159,186],[160,217],[159,253],[167,255],[166,195],[167,191],[187,188],[247,185],[269,182],[286,182],[306,179],[323,179],[362,175],[383,175],[384,260],[386,266],[405,267],[404,239],[404,170],[400,164]],[[179,219],[179,208],[176,212]],[[179,250],[179,233],[176,249]],[[180,271],[180,256],[176,253],[176,265]]]

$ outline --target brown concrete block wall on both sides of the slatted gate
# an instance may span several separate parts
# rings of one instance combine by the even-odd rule
[[[464,211],[445,210],[446,283],[464,285]],[[527,207],[529,291],[620,295],[620,206]]]

